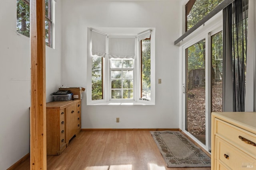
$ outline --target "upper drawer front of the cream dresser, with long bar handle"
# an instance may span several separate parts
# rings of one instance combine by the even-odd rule
[[[256,134],[250,133],[249,131],[231,125],[230,123],[220,119],[215,119],[215,123],[216,135],[230,142],[232,145],[243,150],[247,154],[250,154],[253,158],[256,158],[256,146],[248,144],[239,139],[239,137],[243,137],[249,141],[252,141],[253,143],[256,143]]]

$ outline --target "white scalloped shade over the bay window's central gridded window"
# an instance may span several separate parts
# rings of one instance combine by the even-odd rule
[[[108,37],[108,57],[135,59],[135,37]]]

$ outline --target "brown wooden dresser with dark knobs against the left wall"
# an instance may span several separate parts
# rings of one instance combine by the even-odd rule
[[[81,100],[46,103],[46,152],[59,155],[81,131]]]

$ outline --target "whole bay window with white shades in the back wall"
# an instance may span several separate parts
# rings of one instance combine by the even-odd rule
[[[117,35],[88,28],[88,105],[154,104],[155,31],[140,32]]]

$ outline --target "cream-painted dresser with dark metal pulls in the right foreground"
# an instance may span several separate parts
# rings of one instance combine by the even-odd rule
[[[212,113],[212,170],[256,170],[256,112]]]

